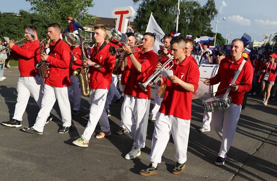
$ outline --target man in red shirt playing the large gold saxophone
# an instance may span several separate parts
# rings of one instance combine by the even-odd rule
[[[107,112],[104,109],[108,89],[111,84],[111,74],[115,64],[115,56],[109,52],[110,46],[104,41],[106,28],[103,25],[94,26],[94,38],[97,46],[91,50],[91,60],[83,62],[84,66],[90,66],[90,117],[82,137],[73,141],[73,144],[88,147],[89,140],[95,130],[97,122],[101,125],[101,132],[96,138],[103,138],[111,134]]]

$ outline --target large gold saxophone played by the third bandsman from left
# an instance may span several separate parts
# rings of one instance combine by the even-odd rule
[[[86,41],[84,40],[81,44],[81,59],[82,62],[86,60],[86,53],[84,49],[84,43],[90,43],[93,42],[93,40]],[[79,84],[81,88],[81,93],[83,96],[88,97],[90,95],[90,88],[89,88],[89,77],[88,77],[88,68],[85,66],[82,66],[81,68],[78,68],[73,71],[73,76],[78,77]]]

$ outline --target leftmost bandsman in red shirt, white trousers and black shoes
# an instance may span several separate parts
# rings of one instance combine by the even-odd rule
[[[35,39],[30,35],[28,28],[32,30],[35,35]],[[35,64],[40,62],[40,49],[39,40],[37,37],[37,28],[29,26],[24,29],[24,35],[27,39],[22,47],[19,47],[12,41],[8,43],[8,46],[12,49],[12,56],[19,59],[19,72],[20,77],[17,83],[17,103],[15,106],[15,113],[13,120],[2,122],[3,125],[9,127],[21,127],[21,121],[24,111],[27,107],[30,95],[32,95],[41,107],[43,80],[35,69]],[[47,117],[46,117],[47,118]],[[52,119],[51,116],[47,118],[47,122]]]

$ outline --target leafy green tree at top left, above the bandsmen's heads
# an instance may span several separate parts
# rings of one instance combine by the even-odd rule
[[[82,23],[94,21],[94,16],[88,15],[88,8],[93,7],[93,0],[26,0],[30,2],[33,12],[46,17],[51,23],[58,23],[64,29],[67,26],[67,17],[79,20],[79,13],[85,12]],[[47,24],[48,25],[48,24]],[[86,25],[86,24],[83,24]]]

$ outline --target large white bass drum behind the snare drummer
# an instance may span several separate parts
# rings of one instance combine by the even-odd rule
[[[199,79],[210,79],[217,75],[219,65],[213,65],[213,64],[201,64],[198,66],[200,76]],[[205,92],[205,97],[212,97],[215,96],[215,92],[218,90],[219,83],[216,85],[205,85],[202,81],[198,82],[198,88],[202,89]]]

